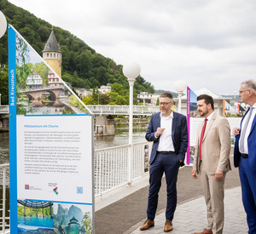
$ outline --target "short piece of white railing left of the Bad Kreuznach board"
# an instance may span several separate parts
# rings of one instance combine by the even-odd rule
[[[0,203],[0,229],[1,233],[9,233],[9,203],[6,203],[6,187],[9,186],[9,163],[0,165],[0,180],[3,188],[2,203]],[[1,213],[0,213],[1,214]]]

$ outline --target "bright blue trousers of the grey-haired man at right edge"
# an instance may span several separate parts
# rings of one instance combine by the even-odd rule
[[[255,167],[255,165],[252,165]],[[240,158],[239,175],[241,180],[241,195],[244,209],[247,213],[249,234],[256,233],[256,174],[252,172],[248,158]]]

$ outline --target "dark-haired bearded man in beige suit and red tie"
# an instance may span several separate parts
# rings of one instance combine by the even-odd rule
[[[204,117],[197,131],[192,176],[200,174],[207,203],[207,227],[194,234],[221,234],[224,227],[224,180],[230,168],[230,124],[219,117],[213,99],[197,97],[197,111]]]

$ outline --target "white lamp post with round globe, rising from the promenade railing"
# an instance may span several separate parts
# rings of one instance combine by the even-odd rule
[[[132,148],[132,125],[133,125],[133,84],[136,78],[141,72],[140,66],[136,62],[131,62],[123,67],[123,73],[128,80],[130,86],[130,98],[129,98],[129,159],[128,159],[128,183],[131,183],[131,165],[133,157],[133,148]]]

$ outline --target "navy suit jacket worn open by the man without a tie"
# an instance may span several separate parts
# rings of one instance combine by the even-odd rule
[[[154,133],[156,132],[156,129],[159,127],[160,127],[160,112],[157,112],[152,115],[150,122],[148,123],[148,129],[145,136],[148,141],[154,141],[149,164],[152,164],[154,162],[154,157],[156,155],[156,151],[159,145],[159,140],[161,136],[158,138],[154,137]],[[174,111],[173,111],[173,119],[172,119],[172,141],[173,141],[175,153],[178,155],[179,160],[184,161],[185,153],[188,148],[187,119],[182,114],[179,114]]]

